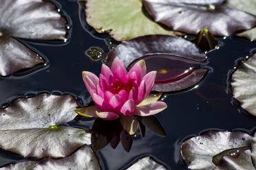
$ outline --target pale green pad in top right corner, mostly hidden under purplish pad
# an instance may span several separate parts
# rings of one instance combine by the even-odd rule
[[[230,8],[242,10],[256,16],[256,1],[254,0],[226,0],[224,4]],[[246,32],[239,33],[237,36],[244,36],[250,40],[256,40],[256,27]]]

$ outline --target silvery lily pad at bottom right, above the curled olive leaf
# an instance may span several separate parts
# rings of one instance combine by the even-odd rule
[[[209,170],[216,167],[213,162],[220,163],[220,159],[230,154],[229,149],[235,149],[231,151],[236,152],[243,147],[250,148],[251,141],[252,137],[243,132],[209,131],[184,141],[181,145],[181,154],[189,169]],[[216,160],[217,158],[220,159]]]

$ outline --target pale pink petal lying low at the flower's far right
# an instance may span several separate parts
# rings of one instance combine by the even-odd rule
[[[150,115],[157,114],[158,112],[162,112],[162,110],[166,108],[167,104],[163,101],[156,101],[151,104],[136,107],[134,114],[141,117],[148,117]]]

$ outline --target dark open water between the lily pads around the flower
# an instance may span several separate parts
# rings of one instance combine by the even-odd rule
[[[0,77],[0,106],[7,106],[17,97],[40,92],[71,93],[78,97],[84,106],[89,103],[89,93],[83,83],[81,72],[91,71],[98,75],[101,62],[92,62],[85,56],[85,51],[96,46],[107,52],[108,36],[96,34],[86,25],[76,1],[56,2],[61,4],[61,10],[65,10],[72,21],[70,38],[65,43],[21,40],[49,61],[47,66],[41,66],[38,71],[30,74]],[[250,52],[256,48],[256,42],[243,38],[219,40],[223,42],[220,49],[207,54],[209,60],[206,65],[210,71],[200,86],[183,93],[164,95],[168,108],[156,114],[156,117],[164,126],[167,137],[156,136],[147,130],[145,138],[140,135],[134,137],[134,144],[129,153],[125,152],[120,144],[116,149],[107,146],[98,153],[103,169],[123,169],[129,166],[130,162],[145,155],[151,155],[156,160],[164,162],[169,169],[187,169],[180,158],[180,143],[184,139],[213,129],[253,132],[256,125],[255,117],[239,108],[232,95],[228,95],[227,91],[230,88],[226,86],[235,61],[250,56]],[[93,119],[85,118],[70,125],[89,129],[92,123]],[[22,160],[25,160],[22,156],[0,151],[0,167]]]

